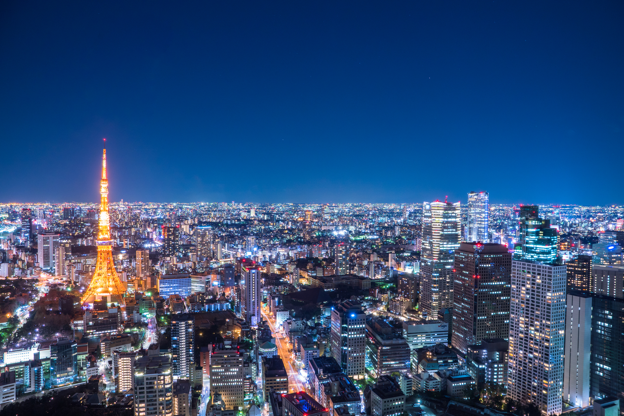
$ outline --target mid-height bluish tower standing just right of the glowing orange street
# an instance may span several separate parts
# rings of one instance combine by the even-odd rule
[[[364,378],[366,314],[358,302],[347,300],[331,311],[331,356],[344,374]]]

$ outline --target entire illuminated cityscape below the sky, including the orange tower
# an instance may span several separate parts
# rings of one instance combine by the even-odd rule
[[[106,163],[99,204],[0,205],[3,415],[611,415],[622,397],[622,206],[112,202]]]

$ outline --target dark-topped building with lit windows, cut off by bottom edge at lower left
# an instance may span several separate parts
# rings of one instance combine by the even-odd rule
[[[143,355],[134,362],[134,416],[173,415],[171,356]]]

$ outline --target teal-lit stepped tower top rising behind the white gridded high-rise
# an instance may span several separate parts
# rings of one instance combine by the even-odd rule
[[[557,229],[550,220],[539,217],[539,207],[520,207],[520,239],[514,250],[514,260],[531,260],[554,264],[557,262]]]

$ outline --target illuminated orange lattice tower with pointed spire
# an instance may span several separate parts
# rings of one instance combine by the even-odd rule
[[[106,144],[106,139],[104,139]],[[99,300],[102,296],[117,297],[117,302],[124,302],[125,288],[117,276],[113,261],[113,241],[110,239],[109,220],[109,181],[106,179],[106,147],[102,154],[102,179],[100,180],[100,229],[97,235],[97,264],[91,284],[84,295],[82,303]]]

